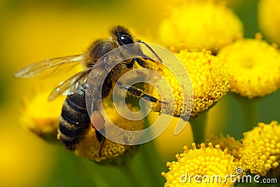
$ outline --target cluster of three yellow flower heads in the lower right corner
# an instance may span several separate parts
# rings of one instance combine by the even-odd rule
[[[189,176],[219,174],[223,177],[226,174],[236,174],[235,169],[238,167],[243,174],[251,172],[265,176],[273,169],[279,169],[280,125],[276,121],[269,124],[258,123],[258,127],[244,132],[241,141],[221,135],[212,136],[208,142],[209,147],[201,144],[201,148],[197,149],[193,144],[193,150],[190,151],[185,146],[184,153],[176,155],[178,161],[167,162],[169,172],[162,172],[167,179],[165,186],[191,186],[190,181],[182,183],[182,177],[186,181],[185,173]],[[237,180],[238,178],[235,181]],[[232,183],[223,185],[233,186]]]

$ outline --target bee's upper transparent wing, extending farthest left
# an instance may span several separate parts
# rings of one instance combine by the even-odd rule
[[[67,57],[57,57],[52,59],[43,60],[41,62],[36,62],[34,64],[29,64],[17,71],[14,76],[16,78],[30,78],[38,76],[45,71],[49,75],[59,73],[59,69],[65,69],[65,67],[73,67],[80,64],[83,60],[83,55],[72,55]]]

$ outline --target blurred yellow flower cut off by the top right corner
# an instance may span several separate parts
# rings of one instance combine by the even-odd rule
[[[269,41],[280,45],[280,6],[278,0],[259,2],[258,24]]]

